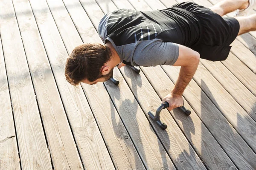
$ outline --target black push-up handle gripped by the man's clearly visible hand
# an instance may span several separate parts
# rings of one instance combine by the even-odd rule
[[[154,112],[153,111],[149,111],[148,112],[148,116],[153,119],[155,122],[157,122],[157,125],[159,125],[161,127],[161,129],[163,130],[166,130],[167,128],[167,125],[165,123],[162,123],[160,121],[160,112],[165,109],[165,108],[168,108],[169,107],[169,103],[168,102],[164,102],[162,103],[159,108],[157,108],[157,111],[156,111],[156,114],[154,116]],[[189,111],[188,109],[186,109],[184,106],[182,107],[179,107],[179,109],[181,111],[183,111],[187,116],[190,115],[191,111]]]

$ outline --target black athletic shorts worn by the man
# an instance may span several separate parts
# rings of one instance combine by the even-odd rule
[[[182,8],[194,14],[200,21],[201,37],[189,47],[200,53],[200,58],[220,61],[227,59],[230,44],[236,39],[240,25],[233,17],[221,17],[209,8],[192,2],[177,3],[174,8]],[[193,32],[193,30],[191,30]]]

